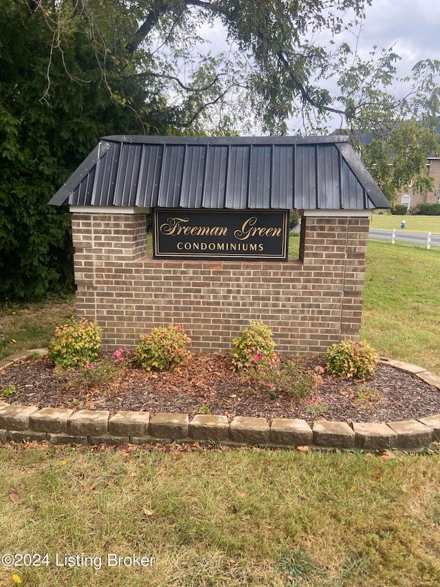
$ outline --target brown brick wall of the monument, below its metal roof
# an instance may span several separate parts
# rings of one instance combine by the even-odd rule
[[[145,215],[74,212],[79,317],[97,319],[107,348],[130,347],[157,325],[180,323],[196,352],[230,350],[250,319],[277,351],[314,354],[357,340],[369,217],[303,217],[300,259],[155,260]]]

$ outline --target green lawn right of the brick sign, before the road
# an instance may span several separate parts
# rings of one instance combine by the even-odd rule
[[[440,373],[440,250],[370,241],[361,337],[383,356]]]

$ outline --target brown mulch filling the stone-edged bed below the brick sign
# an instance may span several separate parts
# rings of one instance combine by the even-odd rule
[[[322,356],[304,359],[311,369],[324,365]],[[207,413],[272,418],[304,418],[355,422],[409,420],[440,414],[440,392],[419,378],[389,365],[377,365],[367,381],[324,374],[318,391],[303,400],[283,394],[272,397],[255,378],[231,369],[231,356],[192,354],[173,372],[151,373],[131,365],[111,383],[88,387],[78,374],[56,373],[47,358],[28,359],[0,372],[3,401],[38,407]]]

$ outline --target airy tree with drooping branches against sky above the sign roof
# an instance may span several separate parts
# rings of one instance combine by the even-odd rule
[[[243,125],[252,107],[263,132],[283,134],[298,110],[306,117],[339,111],[320,81],[338,71],[347,47],[319,45],[318,34],[350,27],[371,1],[41,0],[36,6],[52,25],[58,50],[72,28],[87,30],[106,78],[109,63],[120,71],[130,63],[165,92],[177,128],[194,129],[203,119],[206,128],[211,116],[221,129],[234,120]],[[214,21],[229,45],[217,55],[203,50],[199,34]]]

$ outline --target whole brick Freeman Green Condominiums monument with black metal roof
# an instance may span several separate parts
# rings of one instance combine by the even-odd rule
[[[111,136],[50,204],[72,212],[76,312],[104,347],[176,323],[192,350],[225,351],[261,320],[285,354],[358,340],[369,217],[390,206],[338,136]]]

